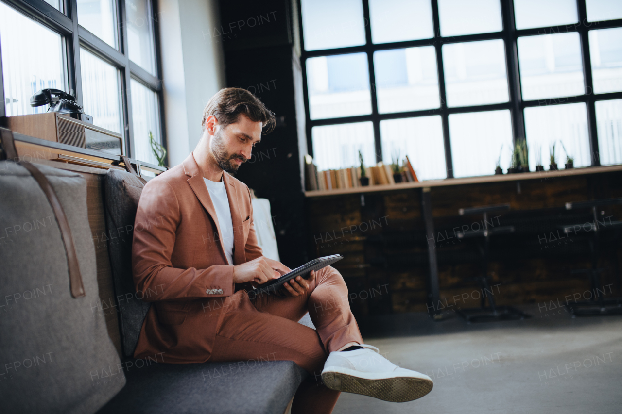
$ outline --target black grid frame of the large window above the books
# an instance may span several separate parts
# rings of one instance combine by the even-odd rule
[[[543,105],[556,105],[567,103],[580,103],[583,102],[587,106],[587,119],[588,119],[588,137],[590,140],[590,152],[592,159],[592,166],[600,165],[600,157],[598,152],[598,133],[596,131],[596,112],[595,102],[605,101],[608,99],[620,99],[622,98],[622,91],[610,92],[610,93],[593,93],[592,83],[592,65],[590,62],[590,44],[588,40],[589,30],[594,29],[610,29],[612,27],[622,27],[622,19],[615,19],[609,21],[588,22],[587,12],[585,6],[585,0],[577,0],[577,16],[578,23],[538,27],[535,29],[516,29],[514,25],[514,1],[513,0],[499,0],[501,3],[501,19],[503,22],[503,30],[501,32],[475,34],[475,35],[460,35],[442,37],[440,35],[439,24],[439,4],[437,0],[430,0],[432,6],[432,24],[434,27],[434,37],[432,39],[423,40],[409,40],[406,42],[392,42],[383,44],[373,44],[371,40],[371,20],[369,19],[369,0],[361,0],[363,4],[363,19],[366,24],[365,30],[365,44],[352,47],[341,47],[322,50],[305,50],[304,48],[304,27],[302,25],[302,0],[296,0],[298,2],[298,19],[301,27],[300,32],[300,65],[302,67],[302,79],[304,88],[304,103],[305,103],[305,121],[307,132],[307,151],[309,155],[313,156],[313,142],[311,136],[311,129],[315,126],[325,125],[338,125],[351,122],[373,122],[374,131],[374,145],[376,150],[376,162],[383,160],[382,154],[382,142],[380,137],[380,121],[386,119],[401,119],[411,118],[419,116],[440,115],[443,126],[443,144],[445,145],[445,168],[447,170],[447,178],[453,178],[453,165],[452,165],[452,150],[450,145],[449,135],[449,115],[458,113],[471,113],[480,111],[494,111],[499,109],[509,109],[512,119],[512,132],[513,141],[516,144],[519,140],[526,139],[525,136],[525,124],[523,111],[525,108],[533,106]],[[585,91],[588,93],[578,96],[568,96],[563,98],[549,98],[549,99],[537,99],[534,101],[523,101],[521,96],[521,79],[519,72],[518,62],[518,48],[516,42],[519,37],[529,35],[542,35],[542,34],[557,34],[565,32],[578,32],[581,42],[581,53],[583,63],[583,81],[585,84]],[[471,42],[476,40],[495,40],[503,39],[506,55],[506,68],[508,77],[508,89],[509,89],[509,101],[506,103],[498,104],[483,104],[472,106],[460,106],[451,107],[447,106],[447,97],[445,94],[445,76],[443,73],[442,62],[442,46],[445,44]],[[440,108],[425,109],[422,111],[407,111],[399,113],[378,113],[378,102],[376,99],[376,88],[374,87],[375,75],[374,75],[374,62],[373,54],[378,50],[390,50],[406,47],[419,47],[419,46],[434,46],[437,59],[437,73],[439,76],[439,95],[440,95]],[[309,90],[307,87],[307,59],[312,57],[341,55],[345,53],[359,53],[364,52],[368,58],[369,68],[369,91],[371,93],[371,114],[347,116],[327,119],[311,119],[309,113]]]

